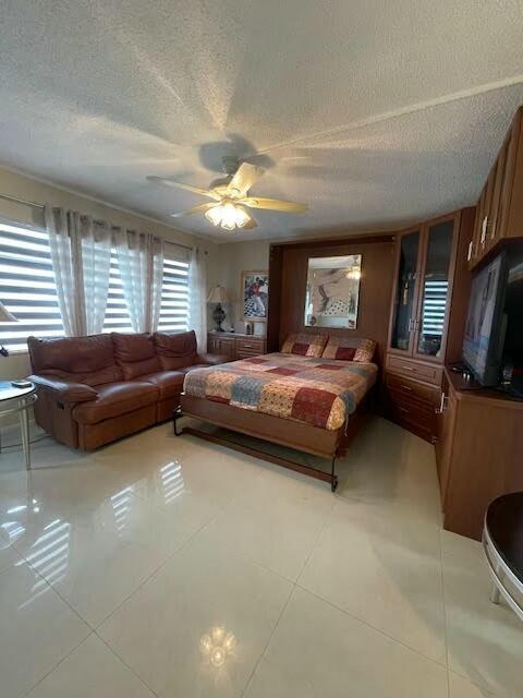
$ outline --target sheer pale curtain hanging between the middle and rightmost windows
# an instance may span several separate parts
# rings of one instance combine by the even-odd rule
[[[161,304],[161,241],[133,230],[117,230],[114,242],[123,297],[134,332],[155,332]]]

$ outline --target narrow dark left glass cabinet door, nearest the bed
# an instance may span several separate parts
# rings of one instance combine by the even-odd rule
[[[415,318],[416,303],[416,268],[419,250],[419,230],[409,232],[401,238],[396,289],[392,335],[392,349],[410,350],[411,332]]]

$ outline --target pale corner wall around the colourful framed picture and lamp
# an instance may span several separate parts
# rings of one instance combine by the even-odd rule
[[[218,245],[216,264],[216,282],[224,286],[235,299],[233,303],[224,306],[227,313],[224,329],[232,325],[236,332],[243,332],[245,324],[242,320],[241,302],[241,275],[242,272],[264,272],[269,268],[268,240],[252,242],[230,242]],[[270,293],[270,279],[269,279]],[[209,320],[209,328],[212,328]],[[265,333],[264,333],[265,334]]]

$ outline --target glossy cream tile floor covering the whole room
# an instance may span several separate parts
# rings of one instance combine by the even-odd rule
[[[389,422],[336,495],[168,424],[34,461],[0,457],[2,698],[523,696],[523,625]]]

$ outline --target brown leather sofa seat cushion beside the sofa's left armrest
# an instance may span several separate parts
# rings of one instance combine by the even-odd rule
[[[96,390],[98,397],[95,400],[73,408],[73,418],[81,424],[96,424],[158,401],[158,388],[142,381],[110,383],[98,386]]]

